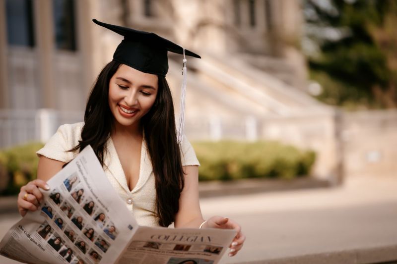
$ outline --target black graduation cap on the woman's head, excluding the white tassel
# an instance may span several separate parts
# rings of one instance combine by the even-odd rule
[[[113,60],[139,71],[165,76],[168,72],[167,52],[178,54],[185,52],[188,56],[201,58],[198,54],[184,50],[181,46],[154,33],[106,24],[96,19],[92,21],[124,36],[124,40],[113,54]]]

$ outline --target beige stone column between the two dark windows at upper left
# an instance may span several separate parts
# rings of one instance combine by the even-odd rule
[[[56,108],[54,76],[54,17],[52,1],[33,1],[41,107]]]

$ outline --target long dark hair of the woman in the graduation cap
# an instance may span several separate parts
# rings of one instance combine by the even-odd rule
[[[109,83],[121,63],[109,62],[92,88],[84,113],[81,141],[70,151],[81,151],[91,145],[103,167],[106,142],[114,117],[109,108]],[[158,224],[168,226],[179,211],[179,198],[184,187],[180,148],[177,143],[174,104],[164,76],[158,75],[158,92],[154,105],[140,120],[149,152],[156,187]]]

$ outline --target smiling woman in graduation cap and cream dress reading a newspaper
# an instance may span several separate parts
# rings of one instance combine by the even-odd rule
[[[237,235],[230,245],[230,256],[234,256],[245,236],[231,219],[202,218],[199,161],[189,141],[181,133],[177,136],[171,91],[165,79],[168,51],[199,55],[153,33],[94,22],[125,39],[92,88],[84,123],[61,126],[37,152],[38,179],[21,188],[21,215],[35,210],[40,201],[41,196],[33,192],[37,193],[38,187],[46,189],[45,181],[91,145],[113,188],[126,207],[130,211],[133,208],[138,224],[235,229]]]

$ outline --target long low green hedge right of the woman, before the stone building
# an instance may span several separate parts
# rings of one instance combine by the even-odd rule
[[[192,144],[201,166],[199,180],[291,179],[310,174],[316,154],[278,142],[222,141]]]

